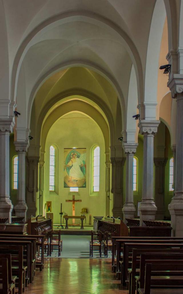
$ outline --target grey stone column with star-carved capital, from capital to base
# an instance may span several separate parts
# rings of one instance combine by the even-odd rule
[[[160,121],[141,120],[138,123],[143,138],[143,191],[142,202],[139,207],[140,226],[145,225],[143,220],[154,220],[157,207],[154,202],[154,135],[158,131]]]

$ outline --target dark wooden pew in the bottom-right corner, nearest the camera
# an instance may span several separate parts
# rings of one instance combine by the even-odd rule
[[[174,279],[164,279],[159,278],[158,282],[163,283],[163,280],[165,281],[165,286],[164,288],[156,288],[156,289],[151,289],[151,276],[153,273],[151,272],[152,270],[160,270],[161,268],[164,268],[166,270],[178,270],[179,272],[182,271],[182,277],[180,276],[175,276]],[[175,264],[150,264],[146,263],[146,268],[145,268],[145,286],[144,288],[139,288],[138,293],[139,294],[182,294],[183,293],[183,264],[177,264],[177,261]],[[176,289],[174,289],[176,288]]]

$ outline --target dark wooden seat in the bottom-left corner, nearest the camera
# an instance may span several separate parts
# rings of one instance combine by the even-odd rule
[[[15,284],[9,281],[8,258],[0,258],[0,293],[15,294]]]

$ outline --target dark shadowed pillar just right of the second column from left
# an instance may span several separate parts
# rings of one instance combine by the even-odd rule
[[[35,216],[37,211],[38,192],[38,168],[40,159],[40,146],[30,145],[27,156],[27,195],[26,202],[28,206],[27,218]]]

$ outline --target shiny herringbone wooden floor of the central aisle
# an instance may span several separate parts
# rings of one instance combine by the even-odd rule
[[[126,294],[111,272],[111,259],[49,258],[25,294]]]

